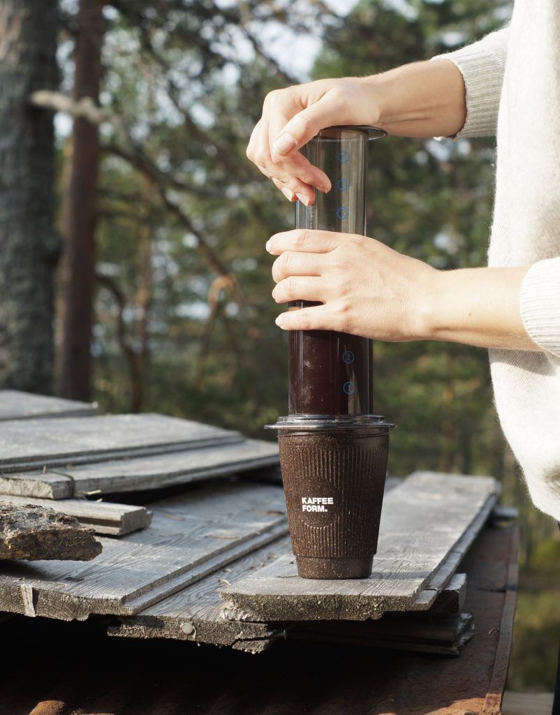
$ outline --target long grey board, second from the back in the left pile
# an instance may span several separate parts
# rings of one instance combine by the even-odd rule
[[[241,440],[237,432],[153,414],[6,420],[0,430],[0,470],[21,473]]]

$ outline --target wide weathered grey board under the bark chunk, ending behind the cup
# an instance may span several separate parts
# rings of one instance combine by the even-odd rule
[[[0,568],[0,610],[72,620],[136,613],[216,568],[287,533],[283,491],[223,483],[149,505],[152,524],[78,563],[14,562]]]

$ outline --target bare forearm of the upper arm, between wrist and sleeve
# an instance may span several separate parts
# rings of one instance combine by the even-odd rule
[[[415,62],[368,77],[378,100],[377,125],[400,137],[446,137],[465,123],[465,85],[446,59]]]

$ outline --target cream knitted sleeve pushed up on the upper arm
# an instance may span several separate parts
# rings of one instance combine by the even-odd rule
[[[463,75],[466,120],[457,137],[488,137],[496,134],[509,27],[483,39],[432,59],[449,59]]]

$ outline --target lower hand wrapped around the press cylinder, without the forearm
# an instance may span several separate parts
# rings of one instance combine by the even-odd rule
[[[289,310],[283,330],[336,330],[375,340],[421,340],[423,297],[440,271],[371,238],[330,231],[277,233],[266,245],[277,303],[321,305]]]

